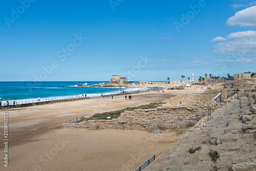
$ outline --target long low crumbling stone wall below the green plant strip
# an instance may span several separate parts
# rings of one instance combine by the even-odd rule
[[[157,130],[158,125],[172,127],[197,122],[205,112],[193,106],[159,106],[156,109],[124,111],[118,119],[89,120],[74,124],[88,126],[90,130],[121,129],[121,130]],[[62,123],[61,127],[70,127],[70,123]]]

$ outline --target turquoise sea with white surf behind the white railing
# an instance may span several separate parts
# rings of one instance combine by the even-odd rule
[[[51,81],[51,82],[0,82],[0,101],[23,100],[87,94],[104,94],[123,91],[144,91],[147,88],[77,87],[76,84],[98,84],[108,81]]]

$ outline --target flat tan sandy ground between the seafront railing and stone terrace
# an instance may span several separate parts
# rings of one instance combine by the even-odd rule
[[[201,90],[147,92],[93,98],[1,111],[9,115],[8,170],[134,170],[152,155],[158,157],[179,136],[173,132],[60,129],[60,123],[80,116],[114,111],[139,102],[162,101]],[[1,131],[3,131],[3,120]],[[1,143],[1,154],[3,154]],[[0,168],[3,168],[2,165]]]

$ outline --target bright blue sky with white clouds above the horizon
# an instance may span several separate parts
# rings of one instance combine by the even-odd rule
[[[0,8],[0,81],[256,72],[256,1],[21,0]]]

